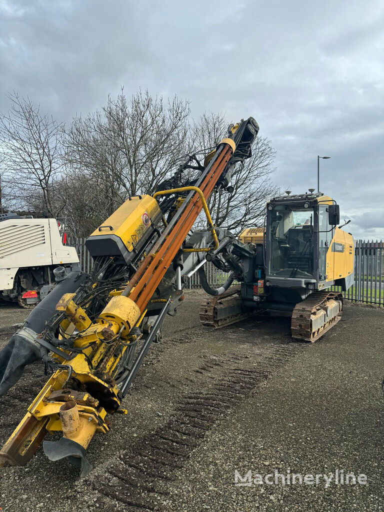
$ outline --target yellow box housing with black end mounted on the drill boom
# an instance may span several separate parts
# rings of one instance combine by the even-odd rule
[[[161,220],[159,205],[152,196],[127,199],[86,241],[93,258],[138,252],[147,241],[148,231]],[[128,261],[127,261],[128,263]]]

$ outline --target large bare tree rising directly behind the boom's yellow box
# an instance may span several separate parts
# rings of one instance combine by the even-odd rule
[[[109,213],[128,196],[151,193],[187,151],[189,104],[121,90],[101,112],[75,117],[67,132],[67,159],[92,177],[110,200]]]

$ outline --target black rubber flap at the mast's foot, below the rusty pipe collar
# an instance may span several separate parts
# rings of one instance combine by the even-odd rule
[[[79,467],[80,478],[92,471],[92,466],[86,458],[86,450],[72,439],[62,437],[58,441],[43,441],[42,448],[49,460],[67,458],[72,465]]]

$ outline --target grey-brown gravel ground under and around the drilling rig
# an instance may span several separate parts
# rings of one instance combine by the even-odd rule
[[[97,435],[94,471],[79,480],[40,449],[3,468],[4,511],[382,510],[383,311],[346,306],[315,344],[291,343],[287,316],[255,317],[218,331],[199,325],[200,292],[187,293],[154,345],[126,416]],[[0,346],[28,314],[2,309]],[[0,399],[3,443],[44,382],[39,364]],[[234,485],[234,471],[262,476],[367,475],[366,485]],[[272,477],[272,480],[274,477]]]

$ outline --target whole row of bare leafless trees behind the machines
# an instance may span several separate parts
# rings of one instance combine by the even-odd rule
[[[164,103],[147,91],[127,100],[121,90],[101,111],[76,116],[67,133],[29,99],[16,93],[10,99],[11,111],[0,118],[6,169],[0,206],[6,197],[7,205],[13,201],[37,215],[69,217],[82,237],[130,195],[153,194],[186,154],[206,155],[228,130],[223,114],[205,113],[190,125],[187,101],[174,97]],[[237,166],[233,190],[216,190],[208,202],[216,225],[235,233],[262,223],[265,202],[276,193],[270,142],[258,138],[252,153]]]

